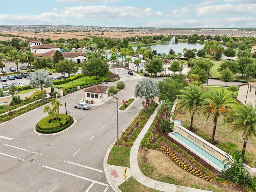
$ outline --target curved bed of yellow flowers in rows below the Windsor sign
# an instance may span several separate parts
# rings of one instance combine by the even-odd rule
[[[170,159],[177,164],[178,166],[180,166],[180,168],[186,170],[187,172],[192,173],[193,175],[196,175],[202,179],[205,179],[206,181],[212,182],[212,178],[210,178],[210,176],[203,174],[200,170],[197,170],[195,168],[193,168],[192,166],[190,166],[189,164],[187,164],[187,162],[185,162],[184,160],[182,160],[182,158],[180,158],[170,147],[166,146],[166,145],[162,145],[160,146],[160,150],[162,152],[164,152],[165,154],[167,154],[168,157],[170,157]]]

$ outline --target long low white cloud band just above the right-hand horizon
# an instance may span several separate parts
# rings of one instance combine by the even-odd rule
[[[187,19],[187,20],[154,20],[144,27],[205,27],[205,28],[228,28],[233,27],[254,27],[256,18],[252,17],[230,17],[230,18],[208,18],[208,19]]]

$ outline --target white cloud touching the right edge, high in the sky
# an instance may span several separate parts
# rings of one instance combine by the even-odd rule
[[[238,15],[238,14],[255,14],[256,4],[221,4],[213,6],[196,7],[197,16],[222,16],[222,15]]]

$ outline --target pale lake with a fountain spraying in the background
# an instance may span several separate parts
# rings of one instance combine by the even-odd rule
[[[142,46],[144,47],[144,46]],[[146,46],[145,46],[146,47]],[[157,53],[166,53],[169,54],[170,48],[172,48],[175,51],[175,54],[177,53],[182,53],[182,49],[187,48],[187,49],[194,49],[196,48],[197,50],[202,49],[204,47],[204,44],[200,43],[176,43],[174,46],[170,46],[170,44],[156,44],[156,45],[151,45],[152,50],[156,50]],[[133,50],[136,51],[137,47],[132,46]]]

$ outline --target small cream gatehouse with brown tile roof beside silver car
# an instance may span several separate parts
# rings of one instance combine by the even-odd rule
[[[94,85],[84,89],[85,92],[85,99],[86,100],[93,100],[95,103],[103,102],[104,100],[108,99],[108,94],[103,94],[107,92],[108,86],[103,85]]]

